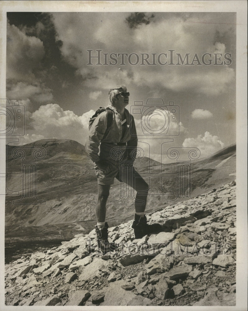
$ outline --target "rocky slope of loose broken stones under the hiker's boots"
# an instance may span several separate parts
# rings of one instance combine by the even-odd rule
[[[135,240],[132,220],[111,227],[119,248],[105,255],[92,230],[7,264],[5,304],[236,304],[235,181],[147,218],[160,232]]]

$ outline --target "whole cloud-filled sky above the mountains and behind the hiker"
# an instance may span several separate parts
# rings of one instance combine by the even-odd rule
[[[205,157],[235,143],[235,24],[232,12],[8,12],[6,95],[25,106],[20,144],[84,145],[116,85],[130,92],[145,156],[166,163],[171,147]]]

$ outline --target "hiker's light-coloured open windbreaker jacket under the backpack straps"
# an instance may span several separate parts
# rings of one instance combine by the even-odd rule
[[[134,159],[138,139],[133,116],[127,109],[125,109],[127,129],[124,137],[121,139],[122,117],[111,105],[109,105],[108,108],[113,111],[113,121],[107,136],[103,139],[104,133],[107,129],[107,112],[104,111],[97,116],[89,130],[89,135],[85,140],[85,151],[93,162],[107,160],[116,164],[117,161],[115,160],[115,157],[110,155],[110,151],[113,147],[115,147],[116,151],[119,149],[124,152],[124,156],[121,160]],[[117,145],[119,143],[123,143],[124,146]],[[124,143],[126,143],[126,146]],[[116,155],[117,153],[115,152]]]

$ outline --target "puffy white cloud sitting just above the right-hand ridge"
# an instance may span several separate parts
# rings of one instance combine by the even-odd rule
[[[186,138],[183,147],[197,147],[200,149],[201,157],[209,156],[224,147],[224,143],[218,136],[212,136],[209,132],[198,135],[196,138]]]

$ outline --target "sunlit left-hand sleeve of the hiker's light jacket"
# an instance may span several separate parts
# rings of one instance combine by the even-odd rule
[[[99,145],[100,140],[103,138],[104,133],[107,129],[107,112],[104,111],[96,117],[89,134],[85,140],[85,151],[93,162],[100,160],[99,158]]]

